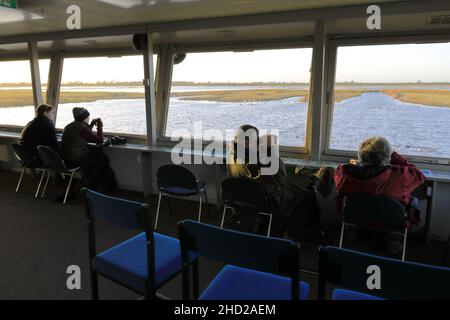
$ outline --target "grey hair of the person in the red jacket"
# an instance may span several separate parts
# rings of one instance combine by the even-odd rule
[[[392,148],[383,137],[370,137],[359,146],[358,157],[363,166],[387,166],[391,161]]]

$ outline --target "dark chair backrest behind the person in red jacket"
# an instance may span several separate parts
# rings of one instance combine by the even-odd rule
[[[405,229],[405,206],[386,196],[352,194],[345,199],[345,222],[386,231]]]

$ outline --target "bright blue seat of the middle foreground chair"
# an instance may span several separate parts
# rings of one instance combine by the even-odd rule
[[[300,299],[308,297],[309,284],[300,282]],[[270,273],[227,265],[200,300],[290,300],[291,279]]]

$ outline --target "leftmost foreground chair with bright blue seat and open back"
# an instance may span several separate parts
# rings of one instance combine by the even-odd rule
[[[154,233],[148,204],[113,198],[83,188],[89,229],[89,262],[92,299],[99,298],[97,275],[127,287],[147,299],[182,271],[180,244],[175,238]],[[144,232],[96,252],[95,220]]]

